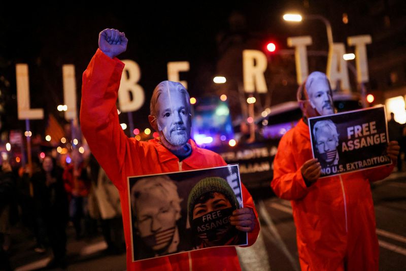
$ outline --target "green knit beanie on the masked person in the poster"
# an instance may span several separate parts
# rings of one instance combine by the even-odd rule
[[[239,209],[240,204],[232,191],[232,188],[227,183],[226,180],[220,177],[209,177],[200,180],[190,191],[187,200],[187,213],[189,215],[189,222],[192,222],[193,209],[197,199],[208,192],[219,192],[225,195],[225,197],[230,201],[231,207],[234,209]]]

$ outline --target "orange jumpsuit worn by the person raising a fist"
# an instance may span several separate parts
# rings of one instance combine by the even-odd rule
[[[83,73],[82,104],[80,121],[89,147],[120,193],[124,235],[127,248],[128,270],[240,270],[234,247],[210,248],[159,257],[156,259],[131,261],[130,214],[127,177],[165,172],[194,170],[225,165],[220,155],[201,149],[190,140],[191,155],[179,161],[158,140],[138,142],[127,138],[119,124],[116,100],[124,63],[111,59],[99,49]],[[242,186],[244,207],[255,211],[248,190]],[[252,245],[259,232],[248,233]]]

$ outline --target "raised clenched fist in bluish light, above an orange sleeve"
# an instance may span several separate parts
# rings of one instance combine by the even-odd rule
[[[127,43],[124,32],[113,28],[104,29],[98,35],[98,48],[110,58],[125,52]]]

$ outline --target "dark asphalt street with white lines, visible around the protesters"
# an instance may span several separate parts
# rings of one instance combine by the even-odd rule
[[[393,173],[386,180],[373,184],[380,243],[380,270],[403,270],[406,266],[406,173]],[[295,227],[290,202],[269,197],[264,192],[256,195],[261,233],[252,248],[239,248],[244,270],[299,270]],[[67,270],[124,270],[125,254],[106,255],[106,243],[96,236],[76,241],[72,226],[69,239]],[[50,251],[40,255],[33,251],[33,240],[13,235],[12,264],[16,270],[44,267],[50,260]]]

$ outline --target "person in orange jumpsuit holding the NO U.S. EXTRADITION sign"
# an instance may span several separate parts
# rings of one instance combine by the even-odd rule
[[[314,72],[298,90],[303,119],[279,143],[271,183],[278,197],[291,200],[302,270],[378,270],[379,247],[369,182],[387,177],[399,152],[389,142],[392,165],[318,180],[308,117],[334,113],[325,74]]]

